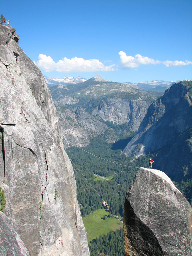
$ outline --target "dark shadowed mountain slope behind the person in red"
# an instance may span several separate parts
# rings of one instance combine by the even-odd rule
[[[137,134],[123,153],[135,157],[153,152],[156,168],[164,170],[173,180],[189,179],[192,177],[191,129],[190,86],[175,83],[149,106]]]

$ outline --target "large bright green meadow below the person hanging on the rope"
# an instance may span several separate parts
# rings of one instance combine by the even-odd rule
[[[101,219],[103,216],[108,216],[109,212],[105,209],[99,209],[92,212],[90,215],[83,217],[83,223],[85,225],[88,242],[92,239],[96,239],[99,235],[105,235],[110,230],[123,228],[123,223],[115,217],[107,218],[106,220]]]

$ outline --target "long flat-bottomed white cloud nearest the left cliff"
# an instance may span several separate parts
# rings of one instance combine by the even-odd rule
[[[114,64],[105,66],[97,59],[84,60],[83,58],[74,57],[68,59],[64,57],[58,62],[53,61],[50,56],[39,54],[39,60],[34,62],[40,69],[44,71],[58,72],[94,72],[94,71],[114,71]]]

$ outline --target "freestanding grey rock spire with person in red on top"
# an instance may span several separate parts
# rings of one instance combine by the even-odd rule
[[[191,206],[164,172],[137,172],[125,198],[124,245],[128,256],[192,255]]]

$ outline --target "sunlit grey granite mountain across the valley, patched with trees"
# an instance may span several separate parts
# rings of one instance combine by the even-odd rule
[[[162,95],[99,75],[75,86],[58,84],[49,89],[59,112],[65,147],[86,146],[98,136],[108,143],[125,138],[138,130],[150,103]]]

